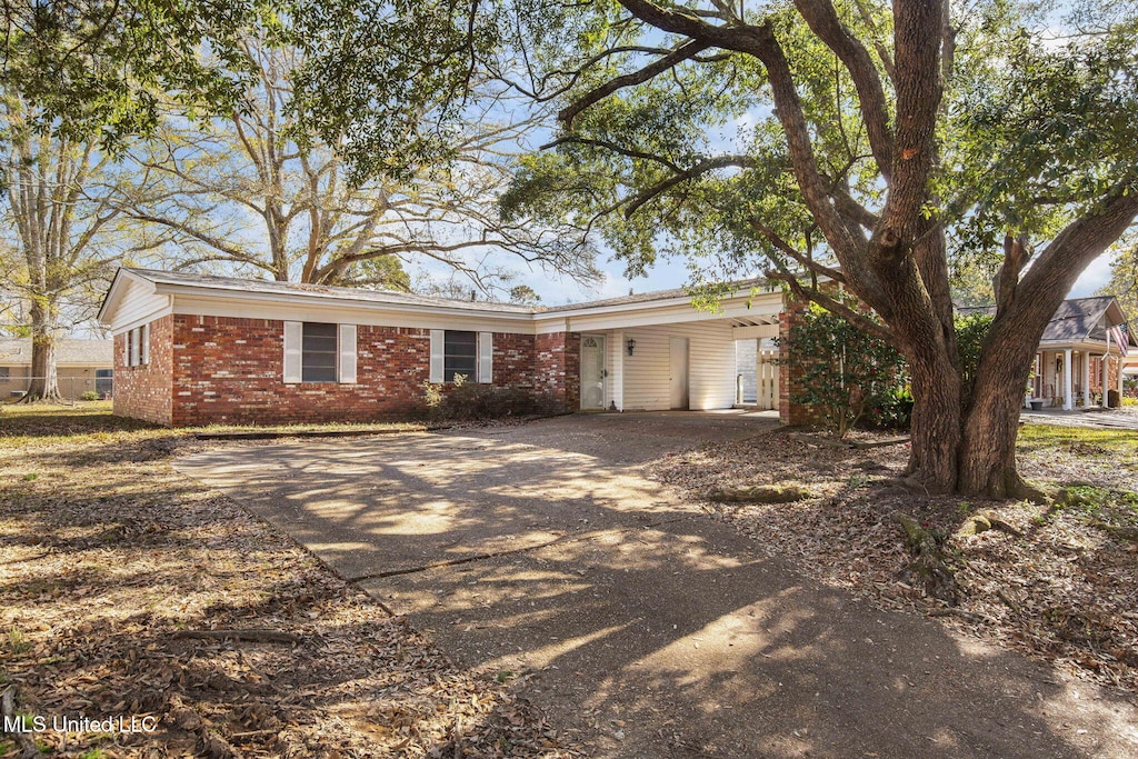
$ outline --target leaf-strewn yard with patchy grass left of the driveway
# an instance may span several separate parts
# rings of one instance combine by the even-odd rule
[[[27,720],[158,718],[0,734],[0,757],[577,756],[510,673],[455,667],[166,463],[200,445],[101,404],[0,412],[0,692]],[[209,637],[254,629],[272,640]]]

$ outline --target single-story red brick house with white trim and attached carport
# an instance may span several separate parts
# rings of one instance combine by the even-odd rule
[[[406,418],[456,374],[562,411],[729,409],[736,341],[783,311],[760,282],[711,313],[684,290],[529,307],[121,269],[99,320],[115,413],[197,426]]]

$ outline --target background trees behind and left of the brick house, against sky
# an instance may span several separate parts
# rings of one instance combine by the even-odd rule
[[[583,230],[498,213],[539,112],[513,118],[472,77],[445,151],[364,173],[351,129],[315,129],[297,97],[296,11],[222,7],[7,9],[0,296],[7,331],[33,339],[28,399],[58,396],[55,341],[92,325],[118,265],[526,302],[522,267],[596,280]]]

